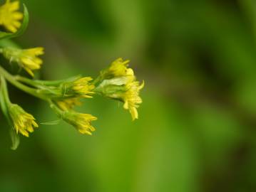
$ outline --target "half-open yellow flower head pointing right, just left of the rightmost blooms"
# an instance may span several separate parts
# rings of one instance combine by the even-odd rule
[[[93,80],[90,77],[79,78],[72,82],[65,82],[61,85],[63,90],[64,97],[84,97],[91,98],[92,90],[95,88],[94,85],[91,85],[89,82]]]

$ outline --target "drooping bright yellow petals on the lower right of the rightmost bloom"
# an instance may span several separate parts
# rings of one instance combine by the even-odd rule
[[[133,120],[138,119],[137,108],[142,103],[139,93],[143,87],[144,81],[141,84],[138,81],[128,82],[126,84],[127,91],[121,97],[124,102],[123,108],[130,111]]]

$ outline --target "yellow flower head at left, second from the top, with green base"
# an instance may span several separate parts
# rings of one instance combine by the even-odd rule
[[[5,58],[18,63],[21,68],[24,68],[29,75],[34,77],[33,70],[39,70],[43,64],[43,60],[39,58],[39,55],[43,55],[43,48],[3,48],[2,53]]]

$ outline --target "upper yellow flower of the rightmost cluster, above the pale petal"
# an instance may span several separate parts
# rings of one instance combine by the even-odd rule
[[[113,61],[109,68],[103,70],[101,72],[101,76],[103,79],[111,79],[117,78],[127,75],[133,75],[133,70],[128,68],[130,60],[123,60],[123,58],[118,58],[117,60]]]

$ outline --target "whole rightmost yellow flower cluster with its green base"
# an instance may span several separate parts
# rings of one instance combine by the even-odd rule
[[[139,96],[144,82],[136,81],[133,69],[128,68],[129,60],[118,58],[101,72],[103,81],[96,87],[96,91],[102,95],[120,100],[124,103],[123,108],[130,111],[134,119],[138,119],[137,108],[142,103]]]

